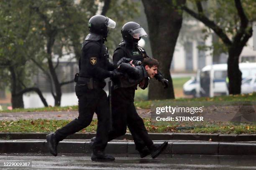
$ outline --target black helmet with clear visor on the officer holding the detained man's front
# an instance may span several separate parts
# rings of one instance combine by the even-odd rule
[[[123,25],[121,33],[123,40],[131,45],[137,45],[138,40],[141,39],[141,36],[148,36],[146,31],[141,27],[141,25],[135,22],[128,22]]]

